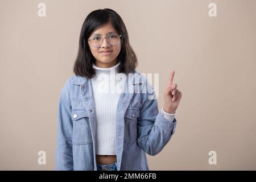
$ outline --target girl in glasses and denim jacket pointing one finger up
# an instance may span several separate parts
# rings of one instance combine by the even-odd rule
[[[57,170],[149,170],[146,153],[158,154],[175,132],[181,92],[172,71],[159,113],[137,64],[121,17],[92,11],[82,24],[75,75],[61,89]],[[142,92],[145,84],[151,92]]]

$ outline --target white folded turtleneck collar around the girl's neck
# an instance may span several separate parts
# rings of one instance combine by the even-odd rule
[[[120,65],[120,62],[118,61],[117,64],[115,64],[113,67],[109,67],[109,68],[100,68],[100,67],[97,67],[94,63],[92,65],[92,67],[95,70],[96,77],[101,73],[104,73],[104,74],[101,74],[100,77],[115,77],[115,75],[117,75],[117,73],[118,73],[119,65]]]

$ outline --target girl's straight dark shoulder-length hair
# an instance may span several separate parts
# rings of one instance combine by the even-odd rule
[[[138,65],[137,56],[130,46],[128,32],[122,18],[111,9],[94,10],[84,20],[79,38],[79,51],[73,67],[76,76],[92,78],[95,71],[92,67],[95,58],[90,52],[88,39],[96,28],[102,27],[108,22],[112,23],[121,38],[121,51],[117,56],[120,62],[118,73],[130,73]]]

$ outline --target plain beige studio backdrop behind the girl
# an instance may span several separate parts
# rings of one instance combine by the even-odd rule
[[[172,69],[183,93],[176,133],[147,155],[150,169],[256,169],[254,0],[1,0],[0,169],[54,169],[60,90],[73,74],[85,17],[105,7],[125,22],[137,71],[159,73],[159,109]],[[46,165],[38,164],[40,150]],[[212,150],[216,165],[208,163]]]

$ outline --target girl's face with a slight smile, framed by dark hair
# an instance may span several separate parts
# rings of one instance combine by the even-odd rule
[[[113,33],[119,35],[117,31],[112,26],[112,23],[106,24],[104,27],[98,28],[96,31],[90,35],[89,39],[100,39],[100,37],[103,39],[103,43],[101,47],[93,47],[92,41],[89,40],[88,44],[90,46],[90,51],[92,52],[92,55],[95,57],[96,63],[95,65],[100,68],[109,68],[113,67],[115,64],[117,64],[117,56],[119,55],[119,52],[121,51],[121,37],[119,37],[119,42],[116,45],[111,45],[108,43],[108,35],[113,35]],[[114,38],[114,36],[109,36],[110,39]],[[105,52],[102,52],[105,51]],[[106,52],[110,51],[110,52]]]

